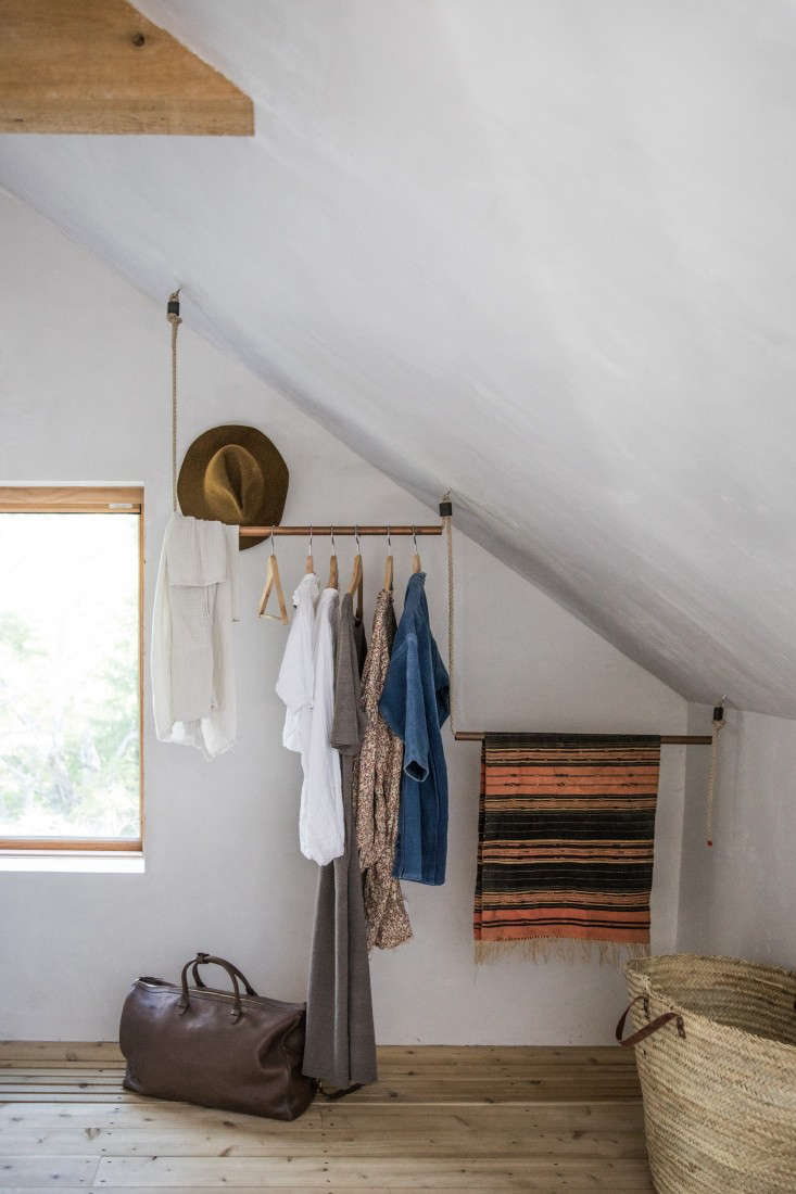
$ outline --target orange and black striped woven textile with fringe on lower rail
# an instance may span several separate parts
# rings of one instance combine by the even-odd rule
[[[649,952],[660,757],[650,737],[484,739],[478,960]]]

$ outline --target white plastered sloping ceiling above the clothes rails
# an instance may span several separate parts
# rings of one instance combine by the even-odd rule
[[[256,137],[6,136],[0,184],[684,695],[796,716],[794,5],[140,7]]]

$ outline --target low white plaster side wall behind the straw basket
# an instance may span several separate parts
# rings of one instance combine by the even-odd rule
[[[710,706],[688,707],[690,733],[710,726]],[[705,844],[710,752],[690,755],[678,948],[796,967],[796,721],[728,709],[712,848]]]

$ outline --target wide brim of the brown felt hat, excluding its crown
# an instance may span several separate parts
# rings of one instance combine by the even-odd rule
[[[265,481],[259,507],[246,517],[241,525],[277,527],[282,519],[287,498],[288,467],[282,454],[268,436],[264,436],[257,427],[238,424],[210,427],[190,445],[177,479],[179,509],[184,515],[192,515],[194,518],[219,518],[218,512],[212,510],[208,503],[204,492],[204,475],[213,456],[220,448],[226,448],[228,444],[239,444],[250,451],[258,462]],[[257,538],[244,538],[240,541],[240,549],[255,547],[257,543],[262,543],[263,538],[262,535]]]

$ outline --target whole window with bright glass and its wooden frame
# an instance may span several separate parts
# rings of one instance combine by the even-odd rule
[[[0,488],[0,848],[140,850],[143,491]]]

